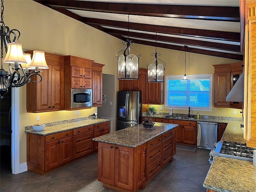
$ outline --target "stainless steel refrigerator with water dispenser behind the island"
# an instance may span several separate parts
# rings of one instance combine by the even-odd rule
[[[118,91],[116,130],[141,123],[141,91]]]

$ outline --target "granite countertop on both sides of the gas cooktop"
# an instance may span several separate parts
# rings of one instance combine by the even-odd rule
[[[221,141],[246,143],[240,124],[228,123]],[[217,192],[255,192],[256,167],[252,161],[215,156],[203,186]]]

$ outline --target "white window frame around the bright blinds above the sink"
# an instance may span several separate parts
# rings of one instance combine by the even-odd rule
[[[212,111],[212,93],[213,93],[213,80],[212,80],[212,74],[194,74],[194,75],[186,75],[188,79],[209,79],[210,80],[210,103],[209,108],[196,108],[192,107],[193,110],[196,111]],[[183,75],[167,75],[165,76],[165,96],[164,96],[164,106],[166,109],[170,109],[172,107],[173,109],[181,109],[181,110],[187,110],[187,107],[177,107],[177,106],[168,106],[167,105],[167,84],[168,80],[181,80],[183,78]],[[186,80],[184,80],[186,81]]]

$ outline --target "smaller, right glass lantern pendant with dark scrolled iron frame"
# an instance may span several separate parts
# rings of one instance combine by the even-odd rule
[[[164,82],[164,67],[166,63],[158,58],[158,56],[161,55],[160,53],[155,52],[151,55],[154,56],[154,58],[146,62],[146,66],[148,67],[148,82]],[[151,63],[152,60],[154,60],[154,63]],[[158,60],[163,64],[158,63]]]

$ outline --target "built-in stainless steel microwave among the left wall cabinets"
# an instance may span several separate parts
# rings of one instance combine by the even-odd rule
[[[92,106],[92,89],[71,89],[71,108]]]

